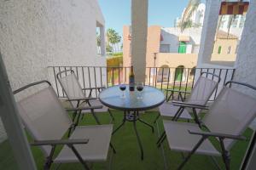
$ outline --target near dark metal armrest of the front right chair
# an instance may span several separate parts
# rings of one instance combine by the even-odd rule
[[[241,135],[233,135],[233,134],[226,134],[226,133],[212,133],[212,132],[195,132],[188,130],[190,134],[198,134],[205,137],[217,137],[222,139],[237,139],[237,140],[246,140],[247,138]]]

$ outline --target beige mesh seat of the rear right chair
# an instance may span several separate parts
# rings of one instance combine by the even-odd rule
[[[173,117],[177,113],[178,108],[179,106],[172,105],[172,102],[165,102],[159,106],[160,115],[166,117]],[[183,113],[179,118],[192,119],[192,116],[190,116],[189,111],[184,109]]]

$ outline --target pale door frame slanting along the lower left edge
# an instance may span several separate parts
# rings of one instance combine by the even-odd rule
[[[0,116],[19,169],[36,169],[0,53]]]

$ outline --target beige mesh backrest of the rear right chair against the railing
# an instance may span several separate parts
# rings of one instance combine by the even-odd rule
[[[203,72],[202,74],[204,73],[205,72]],[[198,80],[195,82],[195,86],[191,91],[189,99],[187,100],[189,103],[195,105],[207,105],[207,101],[211,98],[212,93],[218,87],[218,82],[220,81],[220,78],[218,76],[212,74],[212,77],[218,77],[218,80],[216,81],[213,78],[210,79],[207,77],[203,77],[202,74],[201,77],[199,77]]]

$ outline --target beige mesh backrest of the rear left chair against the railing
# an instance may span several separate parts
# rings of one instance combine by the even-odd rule
[[[63,73],[63,71],[57,74],[57,79],[60,82],[61,87],[64,90],[65,94],[67,95],[67,98],[68,99],[85,98],[84,92],[82,90],[82,87],[79,83],[78,78],[75,76],[72,70],[69,70],[69,71],[70,71],[70,74],[67,74],[67,71],[65,71],[66,74],[63,74],[62,77],[61,77],[61,73]],[[72,101],[70,103],[74,108],[77,107],[76,101]]]

